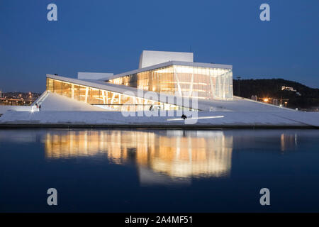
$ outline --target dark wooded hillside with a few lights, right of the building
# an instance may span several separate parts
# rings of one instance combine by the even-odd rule
[[[319,106],[319,89],[312,89],[298,82],[285,79],[240,79],[233,80],[234,95],[250,99],[252,95],[258,98],[289,99],[287,107],[311,109]],[[282,86],[293,87],[296,92],[281,90]],[[239,91],[240,90],[240,91]],[[240,94],[239,94],[240,93]]]

